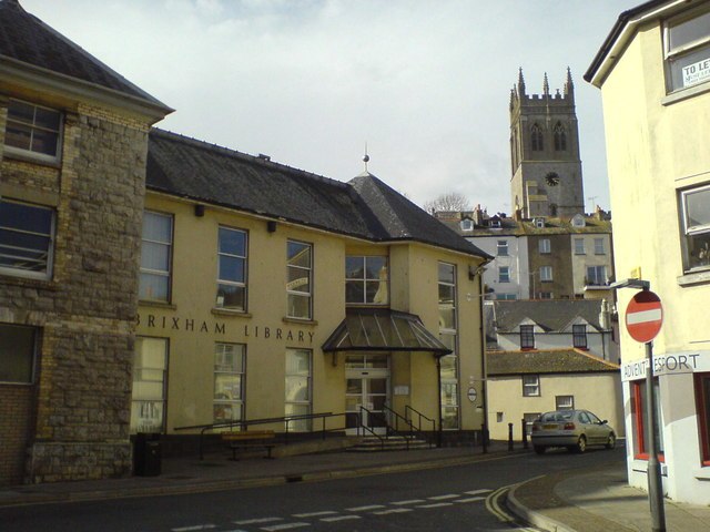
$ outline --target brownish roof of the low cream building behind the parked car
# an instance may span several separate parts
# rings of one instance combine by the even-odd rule
[[[486,354],[486,372],[489,377],[529,374],[599,374],[618,371],[618,365],[578,349],[488,351]]]

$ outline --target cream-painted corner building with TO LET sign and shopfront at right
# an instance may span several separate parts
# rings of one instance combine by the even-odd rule
[[[601,90],[617,278],[650,282],[667,497],[710,500],[710,2],[623,11],[585,79]],[[620,316],[632,290],[618,290]],[[622,328],[628,471],[647,487],[645,346]]]

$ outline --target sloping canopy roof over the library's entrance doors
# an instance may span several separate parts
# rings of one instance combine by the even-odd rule
[[[388,308],[348,308],[345,319],[322,347],[337,351],[428,351],[435,357],[453,352],[418,316]]]

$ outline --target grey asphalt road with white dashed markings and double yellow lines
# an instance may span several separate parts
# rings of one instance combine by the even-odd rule
[[[0,509],[3,532],[510,531],[505,488],[622,461],[623,450],[532,452],[467,466],[180,497]],[[519,530],[527,529],[517,525]]]

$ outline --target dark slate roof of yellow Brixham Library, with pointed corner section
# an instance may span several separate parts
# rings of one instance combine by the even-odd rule
[[[415,241],[488,257],[372,174],[342,183],[158,129],[149,135],[146,186],[373,242]]]

